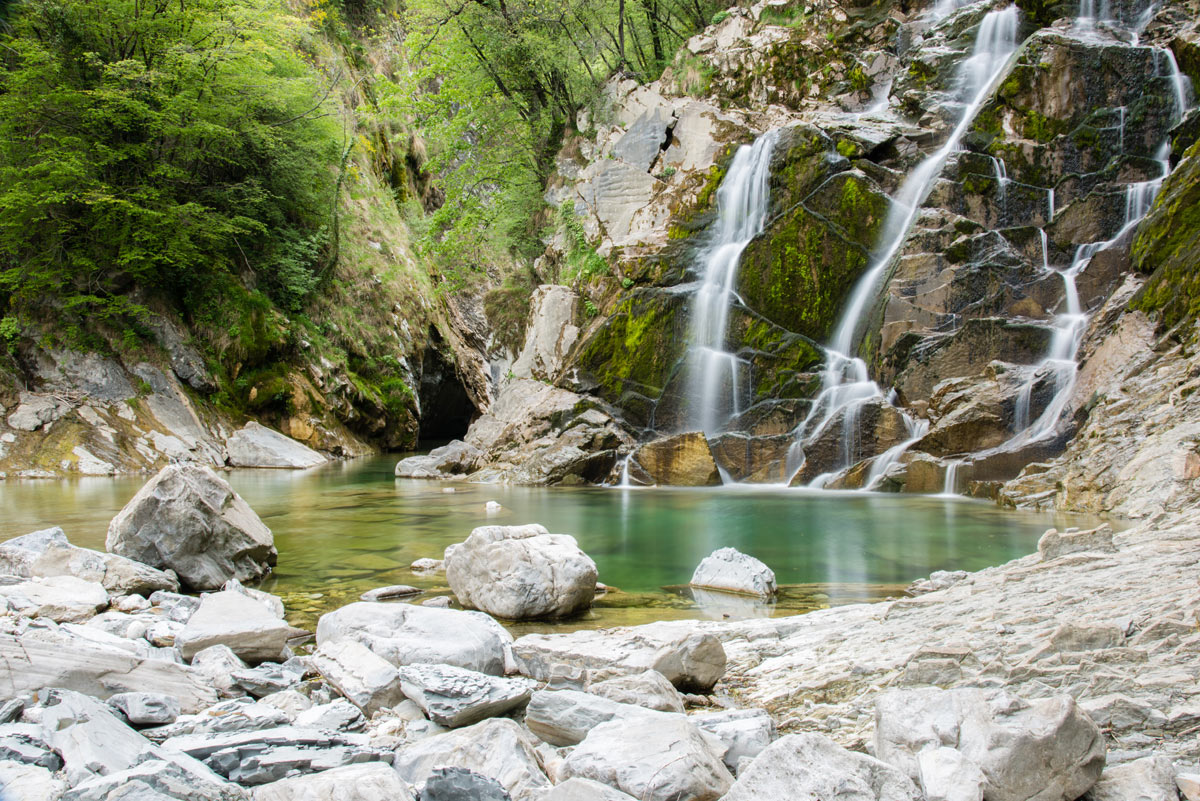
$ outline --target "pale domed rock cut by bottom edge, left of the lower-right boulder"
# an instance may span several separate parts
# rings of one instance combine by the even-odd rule
[[[820,734],[791,734],[760,753],[722,801],[922,801],[907,776]]]

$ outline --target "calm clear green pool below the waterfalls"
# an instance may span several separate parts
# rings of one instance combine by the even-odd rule
[[[616,588],[570,627],[667,618],[796,612],[898,595],[935,570],[978,570],[1031,553],[1049,526],[1078,517],[1012,512],[965,499],[786,489],[547,489],[396,480],[397,457],[313,470],[240,470],[234,488],[275,532],[280,561],[263,585],[289,618],[316,618],[384,584],[449,595],[444,576],[413,573],[476,525],[541,523],[574,535]],[[109,519],[144,477],[0,482],[0,540],[61,525],[103,549]],[[452,487],[455,492],[444,492]],[[487,501],[503,506],[485,511]],[[714,549],[733,546],[769,565],[784,586],[772,607],[736,596],[694,597],[682,585]],[[516,627],[546,628],[546,624]]]

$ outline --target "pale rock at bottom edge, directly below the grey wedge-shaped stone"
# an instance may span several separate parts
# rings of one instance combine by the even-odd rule
[[[422,788],[438,767],[466,767],[493,778],[512,801],[540,801],[550,789],[536,739],[508,718],[491,718],[420,740],[396,754],[396,772]]]

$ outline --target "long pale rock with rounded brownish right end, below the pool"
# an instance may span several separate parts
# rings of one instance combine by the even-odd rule
[[[704,693],[725,674],[721,642],[683,621],[526,634],[512,652],[521,671],[539,681],[548,681],[560,666],[582,670],[589,681],[658,670],[679,691]]]

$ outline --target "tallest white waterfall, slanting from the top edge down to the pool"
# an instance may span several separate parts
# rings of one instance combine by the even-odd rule
[[[852,355],[854,336],[865,321],[865,314],[878,294],[888,266],[907,239],[920,205],[941,174],[946,159],[958,149],[962,135],[991,94],[992,85],[1000,79],[1016,50],[1016,7],[1009,6],[1002,11],[991,11],[983,18],[976,35],[974,48],[959,67],[958,89],[965,108],[958,124],[946,143],[913,168],[892,199],[876,253],[854,287],[826,349],[821,393],[809,415],[796,429],[796,440],[787,459],[788,470],[793,475],[804,464],[805,444],[820,435],[835,417],[842,417],[844,438],[852,438],[857,434],[852,430],[852,422],[858,410],[869,401],[883,397],[878,385],[871,380],[866,363]],[[910,430],[914,430],[916,423],[908,422]],[[892,462],[900,456],[902,451],[896,453]],[[883,469],[886,466],[883,465]],[[818,480],[814,480],[814,486]]]

